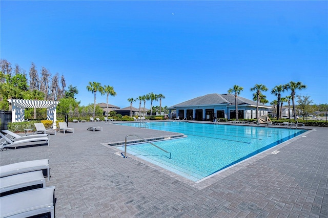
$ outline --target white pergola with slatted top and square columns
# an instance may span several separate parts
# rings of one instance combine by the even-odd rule
[[[56,129],[57,105],[59,101],[45,100],[25,100],[25,99],[8,99],[12,105],[11,122],[25,121],[25,108],[47,108],[47,120],[53,121],[53,128]]]

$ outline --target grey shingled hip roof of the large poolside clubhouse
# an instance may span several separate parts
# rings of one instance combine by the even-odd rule
[[[235,105],[235,96],[232,94],[208,94],[204,96],[200,96],[197,98],[193,98],[191,100],[175,104],[171,106],[170,108],[175,108],[175,107],[185,107],[185,106],[204,106],[204,105],[218,105],[218,104],[226,104],[226,105]],[[240,96],[237,96],[237,104],[238,105],[256,105],[256,101],[247,99],[247,98],[242,98]],[[262,107],[268,107],[265,104],[259,104],[259,106]],[[270,106],[269,106],[270,107]]]

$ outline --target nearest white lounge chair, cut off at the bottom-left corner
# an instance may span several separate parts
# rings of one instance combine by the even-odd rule
[[[10,194],[0,198],[1,217],[55,217],[55,186]],[[37,216],[38,217],[38,216]]]

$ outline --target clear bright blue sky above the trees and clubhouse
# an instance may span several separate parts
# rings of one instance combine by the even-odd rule
[[[81,105],[89,81],[114,86],[109,103],[153,92],[172,106],[192,98],[240,96],[264,84],[301,81],[328,102],[327,1],[1,1],[1,58],[28,74],[64,74]],[[283,93],[282,96],[290,95]],[[97,94],[97,103],[106,96]],[[153,102],[159,105],[159,102]],[[138,102],[133,103],[138,107]],[[150,102],[146,103],[150,107]]]

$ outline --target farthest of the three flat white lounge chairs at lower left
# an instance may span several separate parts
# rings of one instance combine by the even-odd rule
[[[0,166],[0,178],[38,170],[42,170],[44,177],[48,177],[48,181],[50,180],[49,159],[24,161]]]

